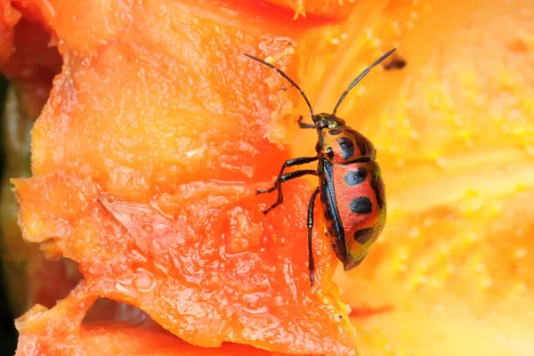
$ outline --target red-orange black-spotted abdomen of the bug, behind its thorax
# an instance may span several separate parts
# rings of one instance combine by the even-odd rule
[[[344,270],[350,271],[361,263],[384,228],[384,182],[374,161],[334,165],[332,173],[344,231]]]

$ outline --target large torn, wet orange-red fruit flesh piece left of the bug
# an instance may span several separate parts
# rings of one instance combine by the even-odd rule
[[[248,8],[41,6],[21,11],[40,11],[64,63],[34,127],[34,177],[14,181],[24,238],[76,261],[86,293],[135,305],[190,344],[357,354],[319,231],[310,287],[312,186],[288,183],[266,216],[274,197],[255,194],[290,158],[295,92],[242,53],[294,75],[295,40]],[[95,13],[109,26],[86,41],[66,29],[71,14],[79,26]],[[45,325],[32,323],[22,335]]]

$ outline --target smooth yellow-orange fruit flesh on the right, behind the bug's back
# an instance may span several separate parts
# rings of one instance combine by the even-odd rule
[[[388,49],[405,62],[373,69],[338,111],[375,143],[388,199],[372,253],[334,279],[354,311],[362,354],[532,352],[527,8],[521,0],[396,2],[381,12],[356,4],[347,21],[299,43],[315,54],[299,69],[316,111],[332,108]],[[310,140],[295,136],[297,155]]]

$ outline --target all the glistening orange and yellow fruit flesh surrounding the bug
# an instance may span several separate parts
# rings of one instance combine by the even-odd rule
[[[22,236],[65,258],[7,244],[45,306],[17,320],[20,355],[534,353],[530,1],[0,4],[12,112],[38,117]],[[310,287],[317,179],[267,215],[256,190],[317,134],[242,53],[329,113],[392,48],[336,113],[378,152],[388,223],[335,273],[316,209]]]

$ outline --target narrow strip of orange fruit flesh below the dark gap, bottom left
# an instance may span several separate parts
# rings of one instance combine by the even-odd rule
[[[134,327],[130,322],[86,322],[95,296],[83,283],[51,310],[34,306],[16,326],[20,330],[19,355],[77,355],[94,353],[146,355],[271,355],[278,353],[249,345],[224,343],[218,348],[188,344],[162,328]],[[80,325],[81,320],[84,319]],[[53,336],[53,337],[51,337]]]

